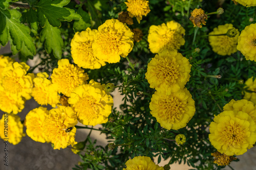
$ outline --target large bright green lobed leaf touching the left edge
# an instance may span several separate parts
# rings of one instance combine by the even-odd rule
[[[1,44],[6,44],[6,42],[8,41],[7,38],[9,37],[9,32],[17,51],[20,51],[22,49],[22,45],[24,43],[27,46],[28,50],[31,53],[35,54],[35,45],[33,43],[32,37],[30,36],[30,29],[19,22],[19,18],[22,14],[20,14],[20,12],[16,9],[0,9],[0,15],[0,18],[3,19],[3,22],[1,21],[0,26],[0,33],[1,31],[3,33],[3,35],[0,36]]]

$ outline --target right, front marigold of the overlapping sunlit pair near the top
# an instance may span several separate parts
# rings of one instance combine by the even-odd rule
[[[93,54],[99,60],[117,63],[133,49],[133,32],[117,19],[106,20],[98,28],[92,44]]]

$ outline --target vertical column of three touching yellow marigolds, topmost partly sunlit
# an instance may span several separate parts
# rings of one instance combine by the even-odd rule
[[[153,94],[150,109],[157,122],[165,129],[184,128],[195,114],[195,101],[185,88],[191,65],[178,53],[184,45],[185,30],[178,22],[151,26],[148,42],[152,53],[158,53],[147,65],[145,78]]]

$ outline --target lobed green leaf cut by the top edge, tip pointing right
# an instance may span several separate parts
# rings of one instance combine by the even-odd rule
[[[76,14],[74,10],[64,8],[68,5],[70,0],[40,0],[35,6],[37,9],[38,22],[42,28],[46,26],[46,18],[53,27],[60,27],[60,21],[72,21],[73,19],[80,19],[81,16]]]

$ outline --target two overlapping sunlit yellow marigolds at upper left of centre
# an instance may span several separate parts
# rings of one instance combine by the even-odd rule
[[[117,63],[133,49],[134,33],[117,19],[106,20],[98,30],[77,32],[71,41],[71,55],[79,67],[96,69],[105,62]]]

